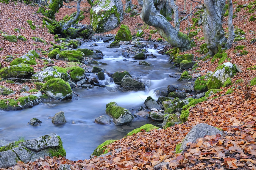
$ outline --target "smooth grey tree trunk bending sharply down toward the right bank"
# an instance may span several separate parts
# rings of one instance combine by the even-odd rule
[[[181,51],[189,50],[195,46],[195,43],[191,42],[186,34],[178,32],[163,15],[157,12],[153,0],[143,0],[140,16],[142,21],[155,27],[158,34],[172,46],[180,48]]]

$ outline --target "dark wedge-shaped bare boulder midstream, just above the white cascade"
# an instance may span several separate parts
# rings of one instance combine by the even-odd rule
[[[122,78],[120,86],[123,87],[123,91],[145,91],[143,82],[131,78],[129,75]]]

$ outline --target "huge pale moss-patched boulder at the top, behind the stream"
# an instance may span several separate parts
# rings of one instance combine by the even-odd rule
[[[90,22],[97,33],[116,28],[123,20],[123,4],[121,0],[95,1],[90,10]]]

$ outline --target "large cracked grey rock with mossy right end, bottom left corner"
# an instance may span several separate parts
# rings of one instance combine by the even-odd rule
[[[44,156],[66,156],[60,136],[55,133],[24,142],[12,142],[4,146],[6,151],[0,152],[0,168],[7,168],[22,162],[33,162]]]

